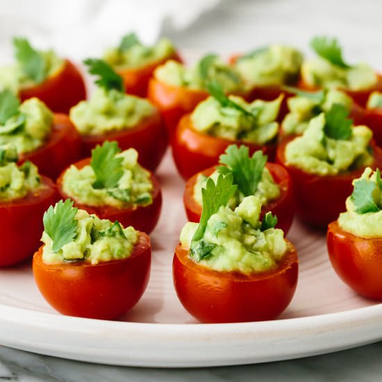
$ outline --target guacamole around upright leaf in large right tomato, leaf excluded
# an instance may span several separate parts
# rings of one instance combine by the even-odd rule
[[[310,120],[301,137],[285,147],[288,165],[320,176],[335,175],[370,165],[372,131],[367,126],[352,126],[349,140],[335,140],[324,134],[324,113]]]

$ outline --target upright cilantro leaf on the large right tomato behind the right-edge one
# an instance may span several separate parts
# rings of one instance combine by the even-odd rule
[[[325,135],[335,140],[351,138],[353,119],[347,118],[349,113],[349,110],[340,103],[333,103],[331,109],[325,113]]]

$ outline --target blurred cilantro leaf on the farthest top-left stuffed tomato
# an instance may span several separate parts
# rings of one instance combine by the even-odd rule
[[[41,53],[33,49],[26,38],[13,38],[13,47],[23,72],[35,83],[42,83],[47,77],[47,69]]]

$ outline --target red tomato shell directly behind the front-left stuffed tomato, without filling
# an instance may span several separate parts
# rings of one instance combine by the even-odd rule
[[[90,158],[80,160],[74,163],[78,169],[90,164]],[[65,170],[57,180],[58,193],[62,199],[73,199],[69,197],[63,190],[63,176]],[[74,200],[74,206],[81,210],[86,210],[90,214],[97,215],[100,219],[108,219],[112,222],[116,220],[123,226],[133,226],[136,230],[145,233],[150,233],[158,223],[160,210],[162,208],[162,192],[157,178],[150,174],[150,181],[153,183],[153,191],[151,195],[153,202],[148,206],[136,206],[135,208],[117,208],[114,206],[89,206],[88,204],[81,204]]]

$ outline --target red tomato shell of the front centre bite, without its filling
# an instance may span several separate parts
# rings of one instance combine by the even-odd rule
[[[274,319],[290,304],[297,286],[297,252],[290,246],[278,269],[247,276],[198,265],[178,244],[172,263],[178,299],[203,323]]]

